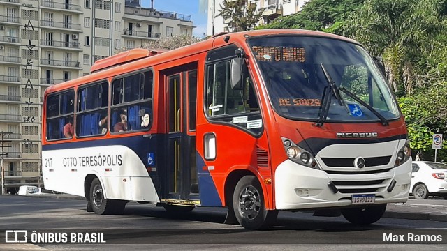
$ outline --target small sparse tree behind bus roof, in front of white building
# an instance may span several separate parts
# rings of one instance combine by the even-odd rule
[[[249,31],[254,28],[262,17],[262,9],[256,11],[256,2],[247,0],[223,1],[218,16],[224,20],[230,20],[228,28],[232,31]]]

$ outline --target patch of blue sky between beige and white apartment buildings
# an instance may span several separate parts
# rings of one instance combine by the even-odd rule
[[[164,10],[184,15],[191,15],[193,21],[193,36],[203,37],[207,32],[207,14],[200,12],[198,8],[199,0],[154,0],[156,10]],[[142,7],[151,7],[151,0],[141,0]]]

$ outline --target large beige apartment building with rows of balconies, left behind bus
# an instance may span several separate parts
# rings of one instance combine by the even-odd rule
[[[191,15],[143,8],[138,0],[0,0],[0,132],[10,132],[3,137],[9,147],[0,149],[6,192],[42,185],[45,88],[88,75],[96,60],[115,52],[192,30]]]

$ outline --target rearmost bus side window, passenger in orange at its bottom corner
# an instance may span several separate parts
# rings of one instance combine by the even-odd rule
[[[67,133],[73,135],[73,112],[75,107],[75,92],[65,91],[48,97],[46,109],[47,139],[64,139]],[[70,125],[71,124],[71,125]]]

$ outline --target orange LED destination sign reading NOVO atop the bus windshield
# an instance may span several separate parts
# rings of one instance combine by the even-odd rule
[[[253,50],[258,61],[304,63],[306,60],[302,47],[254,46]]]

